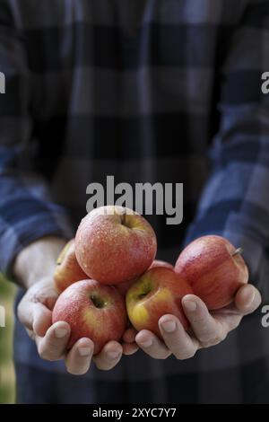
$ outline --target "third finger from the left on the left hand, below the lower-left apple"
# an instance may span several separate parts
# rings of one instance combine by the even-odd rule
[[[122,356],[122,346],[117,341],[109,341],[100,354],[94,356],[95,365],[103,371],[108,371],[117,365]]]

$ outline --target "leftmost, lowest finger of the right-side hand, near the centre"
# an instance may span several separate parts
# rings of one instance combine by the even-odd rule
[[[135,337],[135,341],[143,351],[153,359],[166,359],[171,355],[168,347],[151,331],[142,330]]]

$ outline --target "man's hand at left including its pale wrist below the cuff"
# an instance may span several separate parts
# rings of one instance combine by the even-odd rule
[[[52,310],[58,297],[53,273],[56,258],[64,245],[65,241],[48,237],[32,243],[18,255],[14,274],[28,289],[18,306],[19,320],[36,342],[39,356],[48,361],[65,359],[70,374],[85,374],[91,360],[100,369],[112,369],[123,353],[132,355],[138,349],[134,330],[126,330],[123,344],[110,341],[98,356],[92,356],[94,345],[90,338],[80,338],[71,350],[66,350],[69,325],[64,321],[52,325]]]

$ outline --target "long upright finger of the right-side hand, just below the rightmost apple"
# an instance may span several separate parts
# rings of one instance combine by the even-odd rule
[[[186,295],[182,306],[191,323],[195,337],[203,347],[216,345],[227,335],[227,330],[208,312],[204,302],[195,295]]]

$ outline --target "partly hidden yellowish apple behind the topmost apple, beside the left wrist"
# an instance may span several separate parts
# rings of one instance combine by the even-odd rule
[[[88,278],[75,257],[74,239],[67,242],[56,261],[54,281],[58,292],[63,292],[66,287],[76,281]]]

